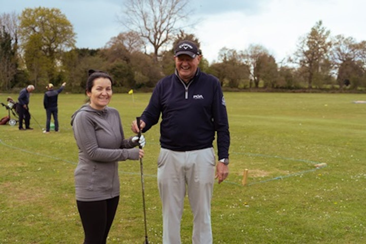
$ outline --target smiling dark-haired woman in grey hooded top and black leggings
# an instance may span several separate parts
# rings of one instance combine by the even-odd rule
[[[112,97],[112,78],[89,70],[86,95],[90,101],[71,119],[79,162],[75,169],[76,203],[85,233],[84,244],[105,244],[119,201],[118,161],[143,157],[145,138],[125,139]]]

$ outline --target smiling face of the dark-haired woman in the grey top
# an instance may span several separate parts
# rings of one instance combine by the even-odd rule
[[[86,95],[90,98],[90,107],[102,110],[112,98],[112,82],[108,78],[96,78],[90,92]]]

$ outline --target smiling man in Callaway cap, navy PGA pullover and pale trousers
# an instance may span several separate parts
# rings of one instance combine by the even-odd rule
[[[228,175],[230,138],[225,100],[219,80],[198,68],[201,53],[195,43],[179,42],[174,60],[175,73],[158,82],[140,123],[146,132],[162,114],[157,181],[163,206],[163,244],[181,243],[186,188],[194,216],[192,243],[212,244],[214,178],[219,178],[220,184]],[[131,129],[138,132],[136,121]]]

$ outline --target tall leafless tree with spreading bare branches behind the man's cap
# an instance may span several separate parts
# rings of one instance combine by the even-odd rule
[[[128,0],[121,22],[153,46],[153,59],[178,32],[177,22],[188,16],[189,0]],[[147,50],[145,50],[147,53]]]

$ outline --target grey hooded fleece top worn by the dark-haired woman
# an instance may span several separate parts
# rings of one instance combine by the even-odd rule
[[[118,161],[139,159],[139,149],[125,139],[119,112],[83,105],[71,117],[72,130],[79,148],[76,166],[76,200],[99,201],[119,196]]]

